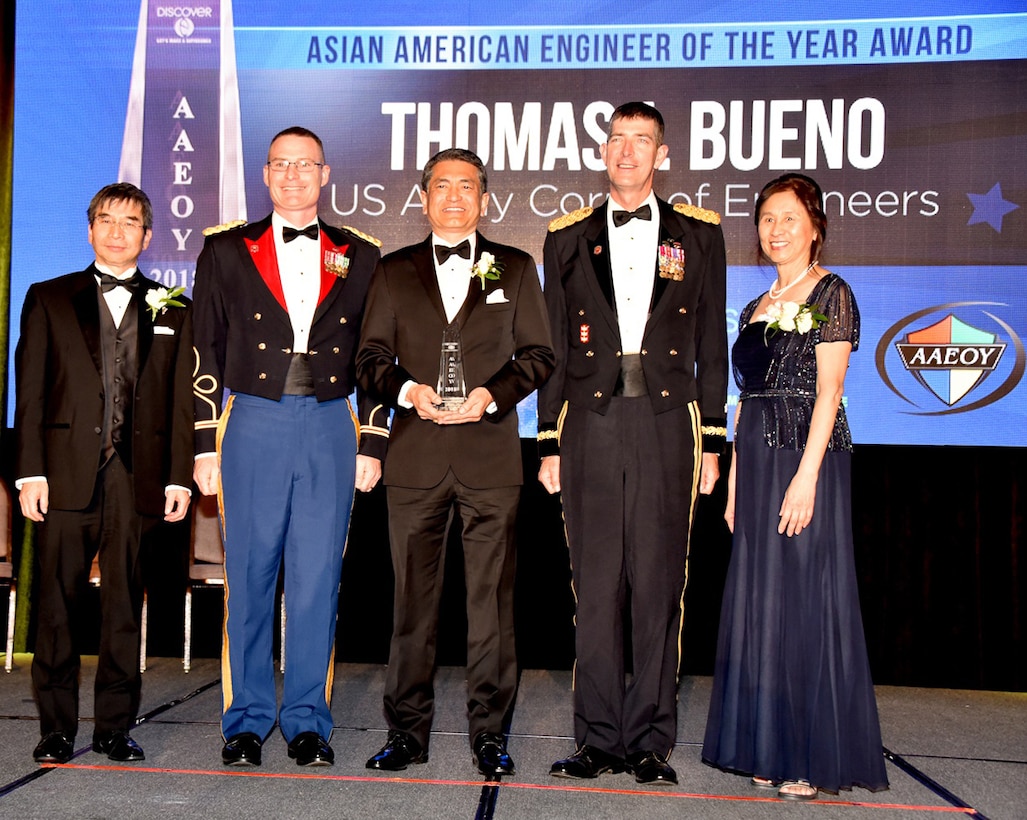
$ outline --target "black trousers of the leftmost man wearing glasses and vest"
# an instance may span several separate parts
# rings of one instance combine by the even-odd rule
[[[139,712],[143,572],[140,542],[157,519],[136,512],[132,477],[114,455],[84,511],[50,509],[39,528],[39,621],[32,682],[42,735],[78,728],[80,625],[100,552],[100,657],[94,734],[127,731]]]

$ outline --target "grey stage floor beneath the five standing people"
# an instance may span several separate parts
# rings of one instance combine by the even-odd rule
[[[681,683],[672,758],[680,785],[642,787],[626,774],[582,782],[550,777],[553,760],[573,751],[571,675],[525,670],[509,740],[517,775],[488,784],[470,759],[462,669],[439,670],[430,760],[389,776],[364,768],[385,741],[382,666],[336,668],[334,767],[297,767],[274,734],[263,766],[239,770],[221,763],[217,661],[196,660],[186,674],[179,659],[149,659],[143,722],[132,732],[146,760],[121,765],[89,750],[96,659],[83,659],[79,751],[66,766],[41,768],[32,760],[39,729],[30,662],[18,655],[10,674],[0,672],[3,817],[1027,818],[1027,694],[879,686],[890,789],[795,804],[699,760],[706,677]]]

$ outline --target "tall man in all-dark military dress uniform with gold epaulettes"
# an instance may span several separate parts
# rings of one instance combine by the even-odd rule
[[[539,393],[539,480],[562,490],[576,597],[577,749],[558,777],[677,783],[688,537],[719,476],[727,335],[720,217],[656,197],[668,150],[655,108],[616,109],[609,199],[554,220],[543,251],[557,369]]]

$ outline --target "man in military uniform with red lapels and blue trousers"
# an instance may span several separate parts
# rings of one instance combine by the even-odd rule
[[[331,766],[332,674],[354,488],[381,476],[386,413],[348,396],[376,240],[317,217],[320,139],[279,132],[264,165],[273,212],[216,231],[196,263],[196,485],[225,536],[226,766],[259,766],[277,721],[299,766]],[[225,388],[231,390],[222,407]],[[284,571],[277,708],[274,595]]]

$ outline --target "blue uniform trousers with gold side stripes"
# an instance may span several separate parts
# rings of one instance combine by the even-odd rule
[[[339,580],[353,504],[356,421],[348,401],[235,394],[222,417],[226,738],[274,728],[275,586],[284,567],[286,675],[278,725],[332,734]]]

